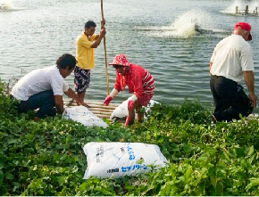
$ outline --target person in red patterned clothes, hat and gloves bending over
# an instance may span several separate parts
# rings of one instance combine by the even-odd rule
[[[104,105],[108,105],[113,97],[128,85],[129,93],[134,93],[129,97],[128,111],[125,127],[134,123],[135,109],[138,113],[138,121],[141,121],[143,114],[138,112],[142,106],[146,106],[151,100],[154,91],[154,78],[142,67],[129,63],[124,54],[118,54],[113,62],[109,63],[116,69],[116,81],[111,94],[107,95]]]

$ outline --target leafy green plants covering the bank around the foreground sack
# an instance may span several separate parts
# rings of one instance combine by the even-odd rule
[[[0,84],[0,195],[259,195],[258,120],[211,124],[186,100],[155,105],[143,124],[84,127],[17,114]],[[88,142],[157,144],[170,164],[138,176],[83,180]]]

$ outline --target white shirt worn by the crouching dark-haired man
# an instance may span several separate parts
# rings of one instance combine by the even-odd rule
[[[33,70],[13,86],[11,94],[19,101],[27,101],[31,95],[53,90],[54,95],[63,95],[69,90],[56,66]]]

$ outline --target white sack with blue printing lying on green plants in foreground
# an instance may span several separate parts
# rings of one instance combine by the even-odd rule
[[[84,179],[136,175],[147,172],[147,165],[164,167],[168,162],[155,144],[88,143],[83,150],[88,159]]]

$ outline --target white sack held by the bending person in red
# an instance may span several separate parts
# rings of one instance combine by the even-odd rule
[[[129,97],[130,98],[130,97]],[[121,103],[111,114],[110,119],[114,119],[114,118],[123,118],[123,117],[127,117],[129,115],[129,111],[128,111],[128,102],[129,102],[129,98]],[[151,107],[154,106],[155,102],[154,100],[150,100],[150,102],[147,104],[147,106],[145,107],[145,111],[149,111]],[[135,114],[135,118],[137,119],[137,115]],[[146,119],[146,117],[145,117]]]

